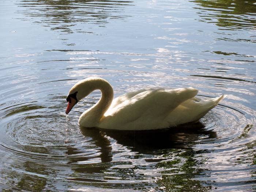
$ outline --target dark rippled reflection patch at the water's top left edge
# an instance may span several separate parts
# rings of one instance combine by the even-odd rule
[[[96,24],[105,26],[109,19],[124,19],[128,15],[124,14],[124,7],[133,5],[133,1],[91,1],[91,0],[73,0],[73,1],[44,1],[44,0],[26,0],[20,1],[18,12],[25,17],[33,19],[34,23],[43,23],[45,27],[51,30],[57,30],[65,33],[94,33],[90,27],[79,26],[79,23]],[[26,18],[21,18],[27,20]],[[86,27],[87,29],[80,29]]]

